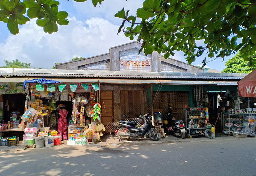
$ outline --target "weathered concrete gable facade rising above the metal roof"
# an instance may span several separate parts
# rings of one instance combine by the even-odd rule
[[[109,48],[109,53],[56,65],[64,70],[110,70],[151,72],[204,72],[201,68],[168,58],[154,51],[152,55],[138,54],[142,44],[138,41]],[[128,62],[129,65],[128,65]],[[137,61],[137,62],[136,62]],[[127,62],[127,64],[126,64]],[[148,64],[144,64],[148,62]],[[121,69],[120,69],[121,68]]]

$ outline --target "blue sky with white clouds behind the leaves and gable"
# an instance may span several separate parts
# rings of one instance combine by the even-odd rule
[[[91,1],[77,3],[59,1],[59,11],[67,11],[69,24],[58,26],[57,33],[44,33],[43,28],[32,19],[20,26],[20,33],[12,35],[7,24],[0,21],[0,66],[4,60],[19,59],[31,63],[32,68],[52,68],[54,63],[68,62],[74,57],[90,57],[109,52],[109,48],[131,42],[124,33],[117,35],[122,19],[114,14],[124,7],[129,14],[136,16],[136,10],[142,7],[142,0],[105,0],[96,8]],[[198,44],[198,43],[197,43]],[[211,69],[223,70],[229,58],[217,58],[207,64]],[[207,54],[203,54],[193,65],[200,65]],[[175,52],[173,59],[186,62],[182,52]]]

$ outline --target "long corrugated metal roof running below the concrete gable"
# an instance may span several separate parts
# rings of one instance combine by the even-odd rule
[[[86,77],[86,78],[141,78],[141,79],[235,79],[245,73],[186,73],[186,72],[135,72],[54,69],[6,69],[0,68],[0,77]]]

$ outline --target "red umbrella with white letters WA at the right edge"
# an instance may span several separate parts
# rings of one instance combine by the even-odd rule
[[[242,97],[256,97],[256,69],[237,82]]]

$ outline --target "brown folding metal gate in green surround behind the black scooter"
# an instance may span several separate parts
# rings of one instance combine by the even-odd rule
[[[156,91],[153,92],[153,97]],[[172,115],[176,120],[185,122],[185,106],[189,107],[189,92],[187,91],[160,91],[153,103],[154,109],[162,109],[162,114],[168,112],[172,106]]]

